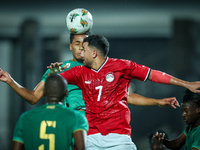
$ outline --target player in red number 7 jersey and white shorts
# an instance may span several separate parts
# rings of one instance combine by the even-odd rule
[[[108,58],[109,42],[100,35],[83,41],[84,66],[60,73],[70,84],[78,85],[86,102],[89,121],[87,149],[136,149],[132,142],[128,87],[132,79],[183,86],[200,92],[200,82],[187,82],[166,73],[151,70],[128,60]],[[51,64],[48,68],[58,67]]]

